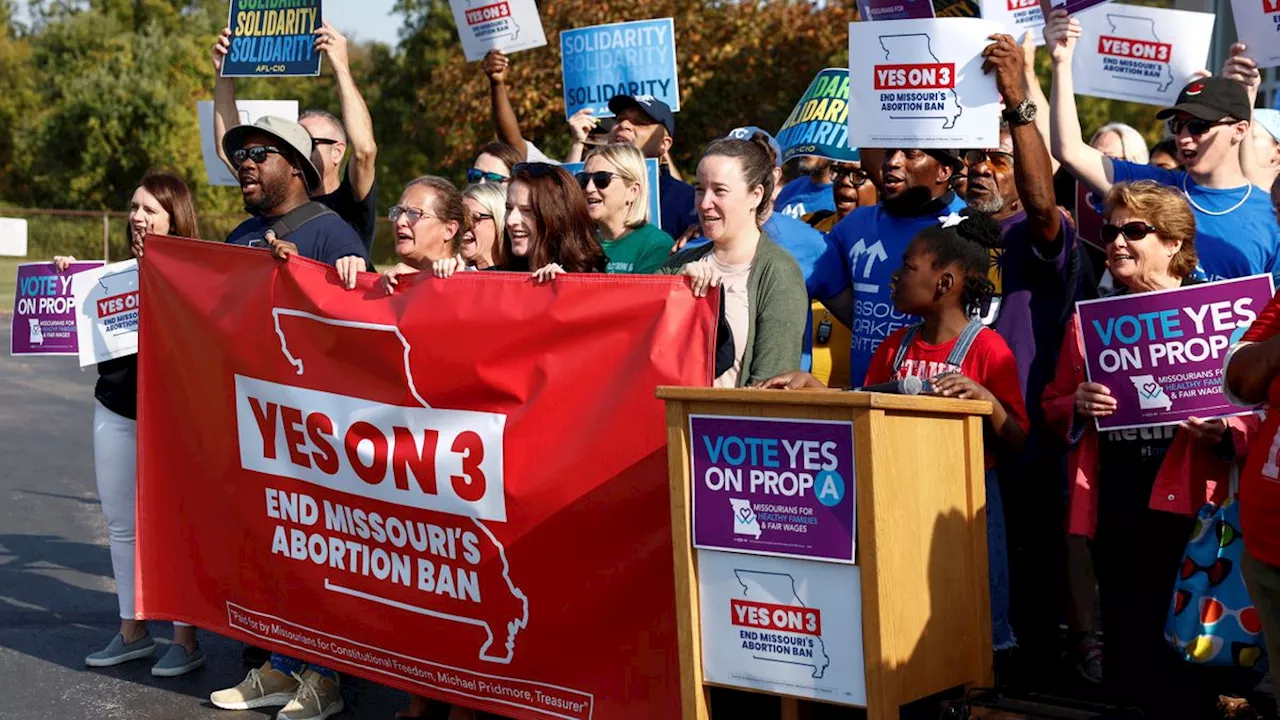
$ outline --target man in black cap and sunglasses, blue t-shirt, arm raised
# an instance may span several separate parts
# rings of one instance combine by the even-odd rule
[[[1253,115],[1247,81],[1193,79],[1174,106],[1156,114],[1167,122],[1183,170],[1114,160],[1089,147],[1080,132],[1071,78],[1071,55],[1080,32],[1079,22],[1062,10],[1052,12],[1044,26],[1053,65],[1053,155],[1100,196],[1114,183],[1138,179],[1180,190],[1196,213],[1199,266],[1193,277],[1226,279],[1280,270],[1275,211],[1266,190],[1249,182],[1240,161],[1242,145],[1251,142]]]

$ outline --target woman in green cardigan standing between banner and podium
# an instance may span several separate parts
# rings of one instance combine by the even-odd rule
[[[717,333],[717,346],[732,340],[733,363],[718,368],[716,387],[759,383],[800,363],[809,313],[804,275],[760,229],[773,197],[774,167],[764,133],[708,145],[698,163],[695,205],[710,242],[677,252],[658,270],[689,275],[698,296],[722,288],[721,325],[728,325],[731,337]]]

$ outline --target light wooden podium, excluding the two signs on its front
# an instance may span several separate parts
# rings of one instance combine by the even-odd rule
[[[854,564],[838,568],[860,574],[865,705],[828,702],[864,706],[870,720],[896,720],[901,705],[993,684],[982,450],[989,404],[680,387],[658,388],[658,397],[667,402],[685,720],[710,717],[708,687],[722,684],[704,682],[699,555],[705,551],[694,547],[691,415],[840,421],[852,430],[856,550]],[[833,610],[823,612],[827,623]],[[806,701],[795,700],[803,692],[771,694],[783,697],[785,717],[804,715]]]

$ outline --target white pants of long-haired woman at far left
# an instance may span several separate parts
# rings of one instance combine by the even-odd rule
[[[133,551],[138,505],[138,424],[93,401],[93,474],[111,539],[111,574],[120,618],[137,618],[133,606]],[[184,625],[184,623],[174,623]]]

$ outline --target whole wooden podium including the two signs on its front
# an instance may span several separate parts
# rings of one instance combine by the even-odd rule
[[[708,688],[865,707],[992,684],[987,402],[658,388],[682,717]]]

